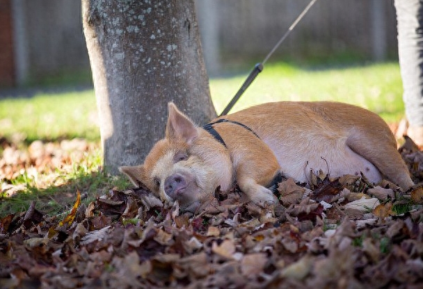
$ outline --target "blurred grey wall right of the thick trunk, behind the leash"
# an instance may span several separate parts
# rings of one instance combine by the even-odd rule
[[[209,74],[261,61],[310,0],[198,0]],[[317,0],[271,60],[397,58],[393,0]],[[250,61],[249,61],[250,62]]]

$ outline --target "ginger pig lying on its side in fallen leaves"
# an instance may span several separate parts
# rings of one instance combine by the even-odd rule
[[[364,174],[407,190],[413,181],[388,125],[375,113],[339,102],[261,104],[196,126],[170,102],[165,137],[143,165],[120,167],[135,185],[194,212],[217,188],[234,184],[250,201],[277,201],[269,186],[280,173],[306,183],[310,172]]]

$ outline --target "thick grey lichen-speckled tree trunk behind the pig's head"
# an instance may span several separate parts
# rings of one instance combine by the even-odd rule
[[[164,136],[167,103],[216,116],[193,0],[82,0],[104,165],[139,165]]]

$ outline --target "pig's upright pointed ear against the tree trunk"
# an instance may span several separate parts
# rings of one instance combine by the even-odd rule
[[[166,126],[166,138],[179,138],[191,145],[198,137],[197,126],[181,113],[173,102],[168,104],[168,124]]]

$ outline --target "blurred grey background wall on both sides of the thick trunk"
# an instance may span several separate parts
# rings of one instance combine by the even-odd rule
[[[197,0],[209,75],[261,61],[309,0]],[[397,59],[392,0],[318,0],[271,60]],[[0,0],[0,87],[90,81],[79,0]]]

